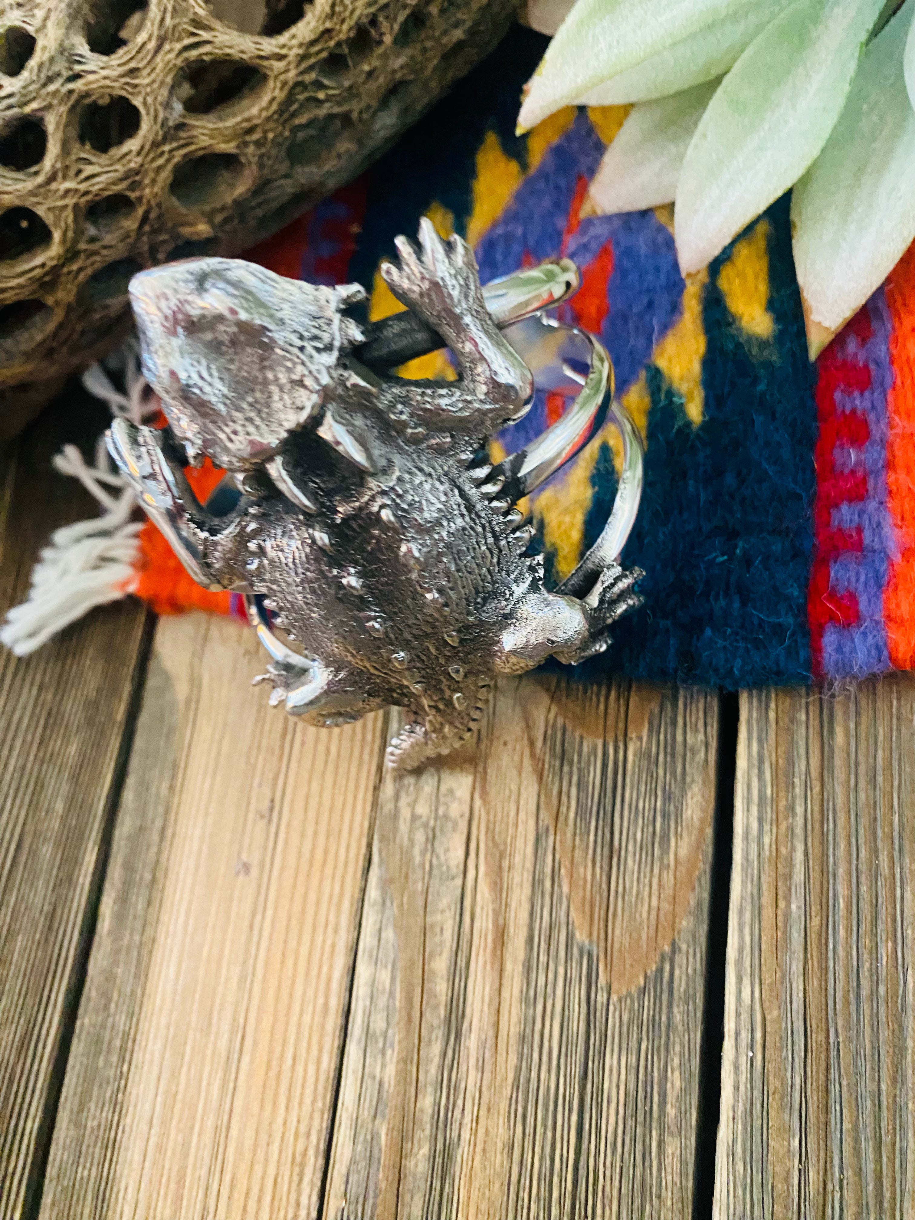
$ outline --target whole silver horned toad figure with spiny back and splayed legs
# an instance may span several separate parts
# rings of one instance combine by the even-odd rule
[[[423,222],[420,246],[399,238],[382,274],[450,349],[459,379],[362,362],[366,333],[346,314],[357,285],[199,259],[133,279],[143,368],[168,428],[118,420],[109,439],[190,573],[248,594],[272,653],[271,702],[326,726],[399,705],[407,723],[388,761],[404,767],[470,736],[495,675],[601,651],[639,604],[642,576],[610,561],[586,595],[544,587],[533,527],[514,506],[529,483],[517,460],[494,470],[484,448],[525,414],[531,372],[465,242]],[[242,493],[221,516],[183,472],[204,455]]]

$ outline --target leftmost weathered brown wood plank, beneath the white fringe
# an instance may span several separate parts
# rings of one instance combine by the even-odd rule
[[[79,395],[0,456],[0,619],[49,533],[96,505],[50,466],[105,412]],[[90,614],[26,660],[0,649],[0,1218],[29,1210],[48,1152],[73,999],[149,649],[135,603]]]

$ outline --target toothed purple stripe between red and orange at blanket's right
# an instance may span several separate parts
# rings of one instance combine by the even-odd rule
[[[864,470],[867,475],[867,495],[856,504],[843,504],[833,511],[832,525],[841,529],[860,529],[863,550],[833,559],[831,588],[836,593],[852,592],[858,598],[859,621],[848,627],[836,623],[824,631],[824,672],[831,678],[863,677],[891,669],[887,633],[883,623],[883,588],[889,559],[895,554],[893,527],[887,510],[887,394],[893,383],[889,362],[892,320],[883,289],[867,301],[872,333],[860,343],[853,328],[836,342],[839,356],[855,360],[870,368],[870,386],[863,393],[837,393],[839,410],[859,411],[867,421],[869,440],[855,449],[836,450],[836,467],[841,471]]]

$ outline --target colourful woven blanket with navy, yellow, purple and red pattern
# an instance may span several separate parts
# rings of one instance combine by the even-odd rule
[[[378,276],[421,216],[473,245],[483,282],[558,254],[582,268],[564,320],[599,334],[645,439],[623,562],[645,604],[590,662],[737,688],[837,682],[915,665],[915,246],[815,364],[787,199],[703,272],[681,276],[670,209],[584,215],[626,110],[569,109],[515,135],[543,39],[516,29],[359,182],[248,257],[318,283],[359,281],[371,318],[399,304]],[[444,354],[405,376],[453,376]],[[511,451],[565,400],[538,392]],[[616,488],[608,428],[532,504],[547,571],[570,572]],[[205,494],[218,481],[194,472]],[[126,586],[160,611],[238,610],[199,589],[144,526]]]

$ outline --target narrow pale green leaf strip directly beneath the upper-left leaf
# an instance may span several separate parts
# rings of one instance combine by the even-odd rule
[[[733,12],[714,26],[665,46],[636,67],[610,77],[575,101],[584,106],[650,101],[720,77],[791,2],[776,0]]]

